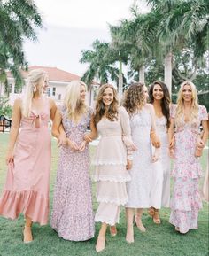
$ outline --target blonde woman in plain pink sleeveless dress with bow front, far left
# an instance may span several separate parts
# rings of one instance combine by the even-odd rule
[[[8,172],[0,215],[12,220],[25,215],[24,243],[33,240],[33,222],[47,224],[49,213],[50,132],[49,120],[56,112],[55,103],[43,97],[48,77],[41,69],[28,74],[23,99],[13,105],[12,129],[6,162]]]

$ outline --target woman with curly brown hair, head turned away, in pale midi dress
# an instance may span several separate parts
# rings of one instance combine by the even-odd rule
[[[131,135],[137,151],[133,154],[133,167],[128,171],[131,181],[127,183],[128,202],[126,204],[127,214],[127,236],[128,243],[134,242],[134,209],[136,210],[135,223],[141,231],[143,226],[143,208],[151,206],[151,174],[153,162],[159,158],[159,149],[151,152],[151,130],[155,132],[154,109],[151,104],[146,103],[143,83],[131,84],[126,93],[124,106],[130,117]]]

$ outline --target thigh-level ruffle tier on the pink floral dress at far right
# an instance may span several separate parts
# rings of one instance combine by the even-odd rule
[[[198,162],[190,165],[176,163],[171,176],[174,178],[190,177],[191,179],[197,179],[202,176],[202,168]]]

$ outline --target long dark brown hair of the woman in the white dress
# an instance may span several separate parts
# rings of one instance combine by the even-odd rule
[[[170,126],[170,108],[169,108],[169,106],[170,106],[170,102],[171,102],[170,93],[169,93],[169,90],[167,89],[167,86],[164,82],[154,81],[151,84],[151,87],[149,89],[149,97],[150,97],[151,104],[154,102],[153,89],[156,84],[159,84],[159,86],[163,90],[164,97],[162,98],[160,105],[162,108],[162,113],[166,117],[166,127],[169,128],[169,126]]]

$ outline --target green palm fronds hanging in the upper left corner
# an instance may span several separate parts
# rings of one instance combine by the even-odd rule
[[[37,39],[35,27],[42,27],[42,18],[32,0],[0,1],[0,24],[0,81],[6,85],[6,71],[10,70],[19,87],[19,69],[27,69],[24,40]]]

